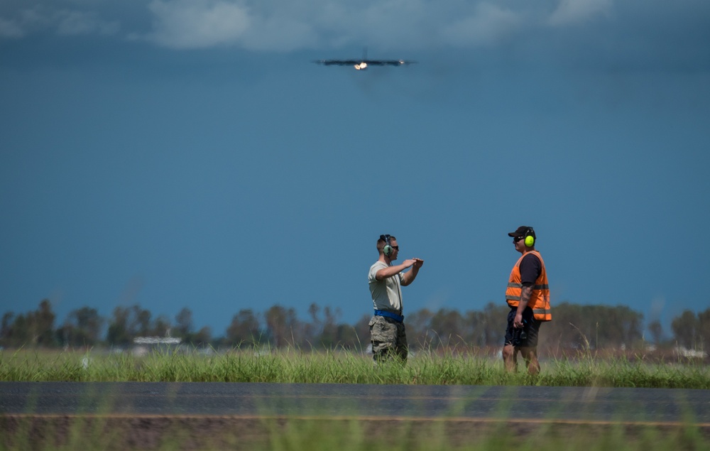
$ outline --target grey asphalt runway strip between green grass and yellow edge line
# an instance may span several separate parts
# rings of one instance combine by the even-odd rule
[[[710,425],[710,391],[537,386],[0,383],[1,414],[476,418]]]

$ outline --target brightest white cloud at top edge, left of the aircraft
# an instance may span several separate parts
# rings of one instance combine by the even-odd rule
[[[169,48],[207,48],[235,43],[249,30],[244,6],[229,1],[153,0],[154,30],[146,38]]]

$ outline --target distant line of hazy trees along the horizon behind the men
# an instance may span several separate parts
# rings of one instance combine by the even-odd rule
[[[407,335],[414,349],[451,347],[500,347],[508,307],[488,303],[483,310],[441,308],[417,310],[407,315]],[[37,310],[4,313],[0,325],[0,346],[16,347],[119,347],[131,346],[136,337],[179,337],[194,347],[296,347],[297,349],[364,350],[369,344],[365,314],[349,325],[339,322],[339,309],[313,303],[307,320],[300,320],[293,308],[273,305],[263,313],[239,310],[224,335],[214,337],[209,327],[195,330],[192,311],[183,308],[171,320],[153,314],[140,305],[114,308],[111,317],[101,317],[95,308],[72,310],[63,322],[56,321],[49,300]],[[560,303],[553,320],[540,334],[541,347],[564,349],[633,349],[642,343],[679,345],[706,349],[710,344],[710,308],[701,313],[685,310],[672,319],[672,337],[666,337],[659,321],[644,334],[643,314],[626,306]]]

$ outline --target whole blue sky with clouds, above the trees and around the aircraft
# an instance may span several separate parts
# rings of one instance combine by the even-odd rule
[[[702,0],[4,1],[0,310],[352,324],[384,233],[405,313],[479,310],[521,224],[553,307],[705,310],[708,43]],[[418,63],[312,63],[364,47]]]

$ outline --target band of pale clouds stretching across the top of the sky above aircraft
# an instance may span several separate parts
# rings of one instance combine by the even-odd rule
[[[707,0],[0,1],[0,40],[112,34],[174,49],[350,48],[333,57],[487,47],[541,64],[706,67],[708,30]]]

